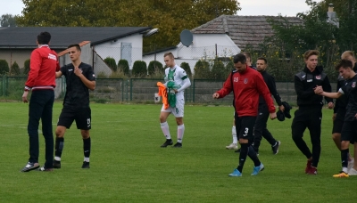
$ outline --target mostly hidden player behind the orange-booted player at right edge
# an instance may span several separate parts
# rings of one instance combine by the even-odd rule
[[[342,53],[341,59],[351,61],[354,65],[353,71],[354,72],[357,71],[357,63],[356,63],[356,59],[354,57],[353,52],[345,51],[344,53]],[[338,76],[336,92],[338,92],[338,90],[344,85],[345,85],[345,77]],[[336,105],[334,108],[334,115],[332,117],[333,122],[334,122],[334,125],[332,128],[332,139],[335,142],[338,150],[341,150],[341,131],[342,131],[342,126],[343,126],[344,120],[345,120],[345,108],[346,108],[347,102],[348,102],[347,97],[345,97],[344,95],[339,97],[336,100]],[[356,152],[354,152],[354,156],[356,156]],[[354,168],[353,168],[353,164],[354,164]],[[353,168],[353,170],[351,170],[352,168]],[[348,154],[348,171],[355,172],[355,174],[357,175],[357,171],[355,169],[357,169],[357,163],[354,163],[354,159],[352,158],[351,154],[349,153]]]

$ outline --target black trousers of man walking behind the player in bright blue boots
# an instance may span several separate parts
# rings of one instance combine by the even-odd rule
[[[274,145],[277,140],[270,134],[267,129],[267,122],[270,116],[268,106],[265,103],[260,103],[258,108],[258,116],[254,125],[254,144],[253,149],[258,152],[259,146],[261,146],[262,137],[264,137],[270,145]]]

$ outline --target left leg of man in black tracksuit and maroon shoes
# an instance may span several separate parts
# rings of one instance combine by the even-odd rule
[[[296,147],[301,152],[303,152],[303,155],[305,155],[305,157],[307,158],[305,173],[308,173],[311,169],[312,153],[308,148],[308,146],[306,145],[306,142],[303,141],[303,132],[306,129],[307,126],[306,122],[308,122],[307,119],[310,118],[310,115],[308,110],[303,110],[303,111],[302,110],[295,111],[295,117],[291,125],[291,131],[292,131],[292,138],[293,141],[295,142]]]

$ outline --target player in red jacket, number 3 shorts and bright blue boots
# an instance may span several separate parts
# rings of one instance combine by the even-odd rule
[[[243,53],[235,55],[233,62],[236,70],[232,71],[223,87],[212,95],[214,99],[219,99],[225,97],[230,92],[234,93],[237,137],[239,138],[241,150],[239,154],[239,165],[229,176],[242,176],[247,156],[249,156],[254,163],[252,175],[258,175],[259,172],[264,169],[264,166],[250,143],[253,142],[253,126],[258,114],[259,94],[262,94],[265,102],[267,102],[270,118],[277,118],[277,114],[275,113],[274,103],[262,75],[248,68]]]

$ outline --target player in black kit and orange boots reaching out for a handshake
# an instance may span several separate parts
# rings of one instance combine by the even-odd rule
[[[323,91],[323,87],[318,86],[315,88],[315,93],[320,95],[330,97],[330,98],[339,98],[343,94],[347,96],[347,106],[345,112],[345,121],[342,126],[341,132],[341,162],[342,162],[342,171],[333,175],[333,177],[348,177],[348,154],[349,154],[349,144],[350,141],[354,142],[354,150],[357,149],[357,76],[353,71],[353,63],[349,60],[341,60],[336,65],[336,70],[340,73],[342,77],[346,79],[345,85],[341,86],[337,93],[327,93]],[[357,175],[355,169],[351,169],[351,175]]]

